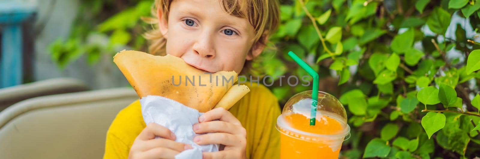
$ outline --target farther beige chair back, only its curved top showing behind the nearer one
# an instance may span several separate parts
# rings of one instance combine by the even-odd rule
[[[0,89],[0,111],[25,99],[89,90],[84,82],[74,78],[53,78]]]

